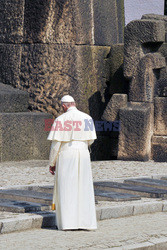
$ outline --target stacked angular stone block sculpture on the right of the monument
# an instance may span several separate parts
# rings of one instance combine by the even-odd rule
[[[144,15],[125,27],[123,72],[128,102],[126,92],[113,94],[102,116],[107,121],[120,119],[118,159],[167,161],[166,41],[166,16]]]

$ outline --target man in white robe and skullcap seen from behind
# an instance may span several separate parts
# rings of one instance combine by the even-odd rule
[[[55,119],[49,165],[55,177],[56,221],[60,230],[97,228],[88,146],[96,139],[92,118],[79,111],[73,97],[61,99],[64,114]]]

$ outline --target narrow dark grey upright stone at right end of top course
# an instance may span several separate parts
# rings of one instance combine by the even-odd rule
[[[124,1],[93,1],[94,40],[98,45],[123,42]]]

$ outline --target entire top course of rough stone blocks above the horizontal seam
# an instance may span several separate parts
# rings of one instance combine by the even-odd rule
[[[0,13],[3,43],[110,45],[123,41],[123,0],[2,0]]]

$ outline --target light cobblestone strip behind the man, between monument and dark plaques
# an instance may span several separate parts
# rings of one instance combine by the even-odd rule
[[[138,176],[167,175],[167,163],[137,161],[92,162],[94,180]],[[48,161],[20,161],[0,163],[0,187],[10,185],[53,184]]]

